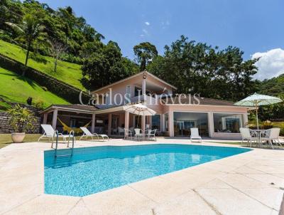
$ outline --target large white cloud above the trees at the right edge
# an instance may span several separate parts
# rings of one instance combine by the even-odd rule
[[[281,48],[257,52],[251,58],[260,58],[256,62],[258,73],[254,76],[258,80],[273,78],[284,73],[284,50]]]

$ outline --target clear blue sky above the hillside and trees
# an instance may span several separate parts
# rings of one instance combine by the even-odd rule
[[[72,6],[106,37],[105,43],[118,42],[129,58],[143,41],[162,54],[165,44],[182,34],[220,48],[237,46],[245,59],[284,46],[283,0],[40,1],[53,9]]]

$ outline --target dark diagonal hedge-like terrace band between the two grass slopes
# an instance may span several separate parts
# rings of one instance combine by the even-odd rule
[[[23,63],[15,61],[7,56],[3,56],[0,54],[0,66],[5,68],[6,70],[11,70],[18,75],[22,75],[23,71],[26,70],[25,76],[34,80],[39,85],[42,85],[52,93],[64,98],[69,103],[79,104],[79,95],[81,90],[79,88],[75,88],[72,85],[69,85],[61,80],[53,78],[50,75],[47,75],[39,70],[35,70],[34,68],[25,66]],[[84,102],[89,100],[90,95],[87,93],[83,93]]]

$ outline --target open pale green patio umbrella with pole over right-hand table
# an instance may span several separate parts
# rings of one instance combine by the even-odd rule
[[[255,107],[256,108],[256,124],[258,128],[258,106],[262,105],[272,105],[275,103],[281,103],[283,100],[277,97],[273,97],[270,95],[261,95],[258,93],[254,93],[253,95],[249,95],[247,98],[240,100],[234,105],[238,106],[247,106],[247,107]]]

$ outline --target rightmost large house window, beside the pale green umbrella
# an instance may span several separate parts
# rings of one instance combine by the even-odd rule
[[[242,126],[241,114],[214,113],[214,132],[239,133]]]

